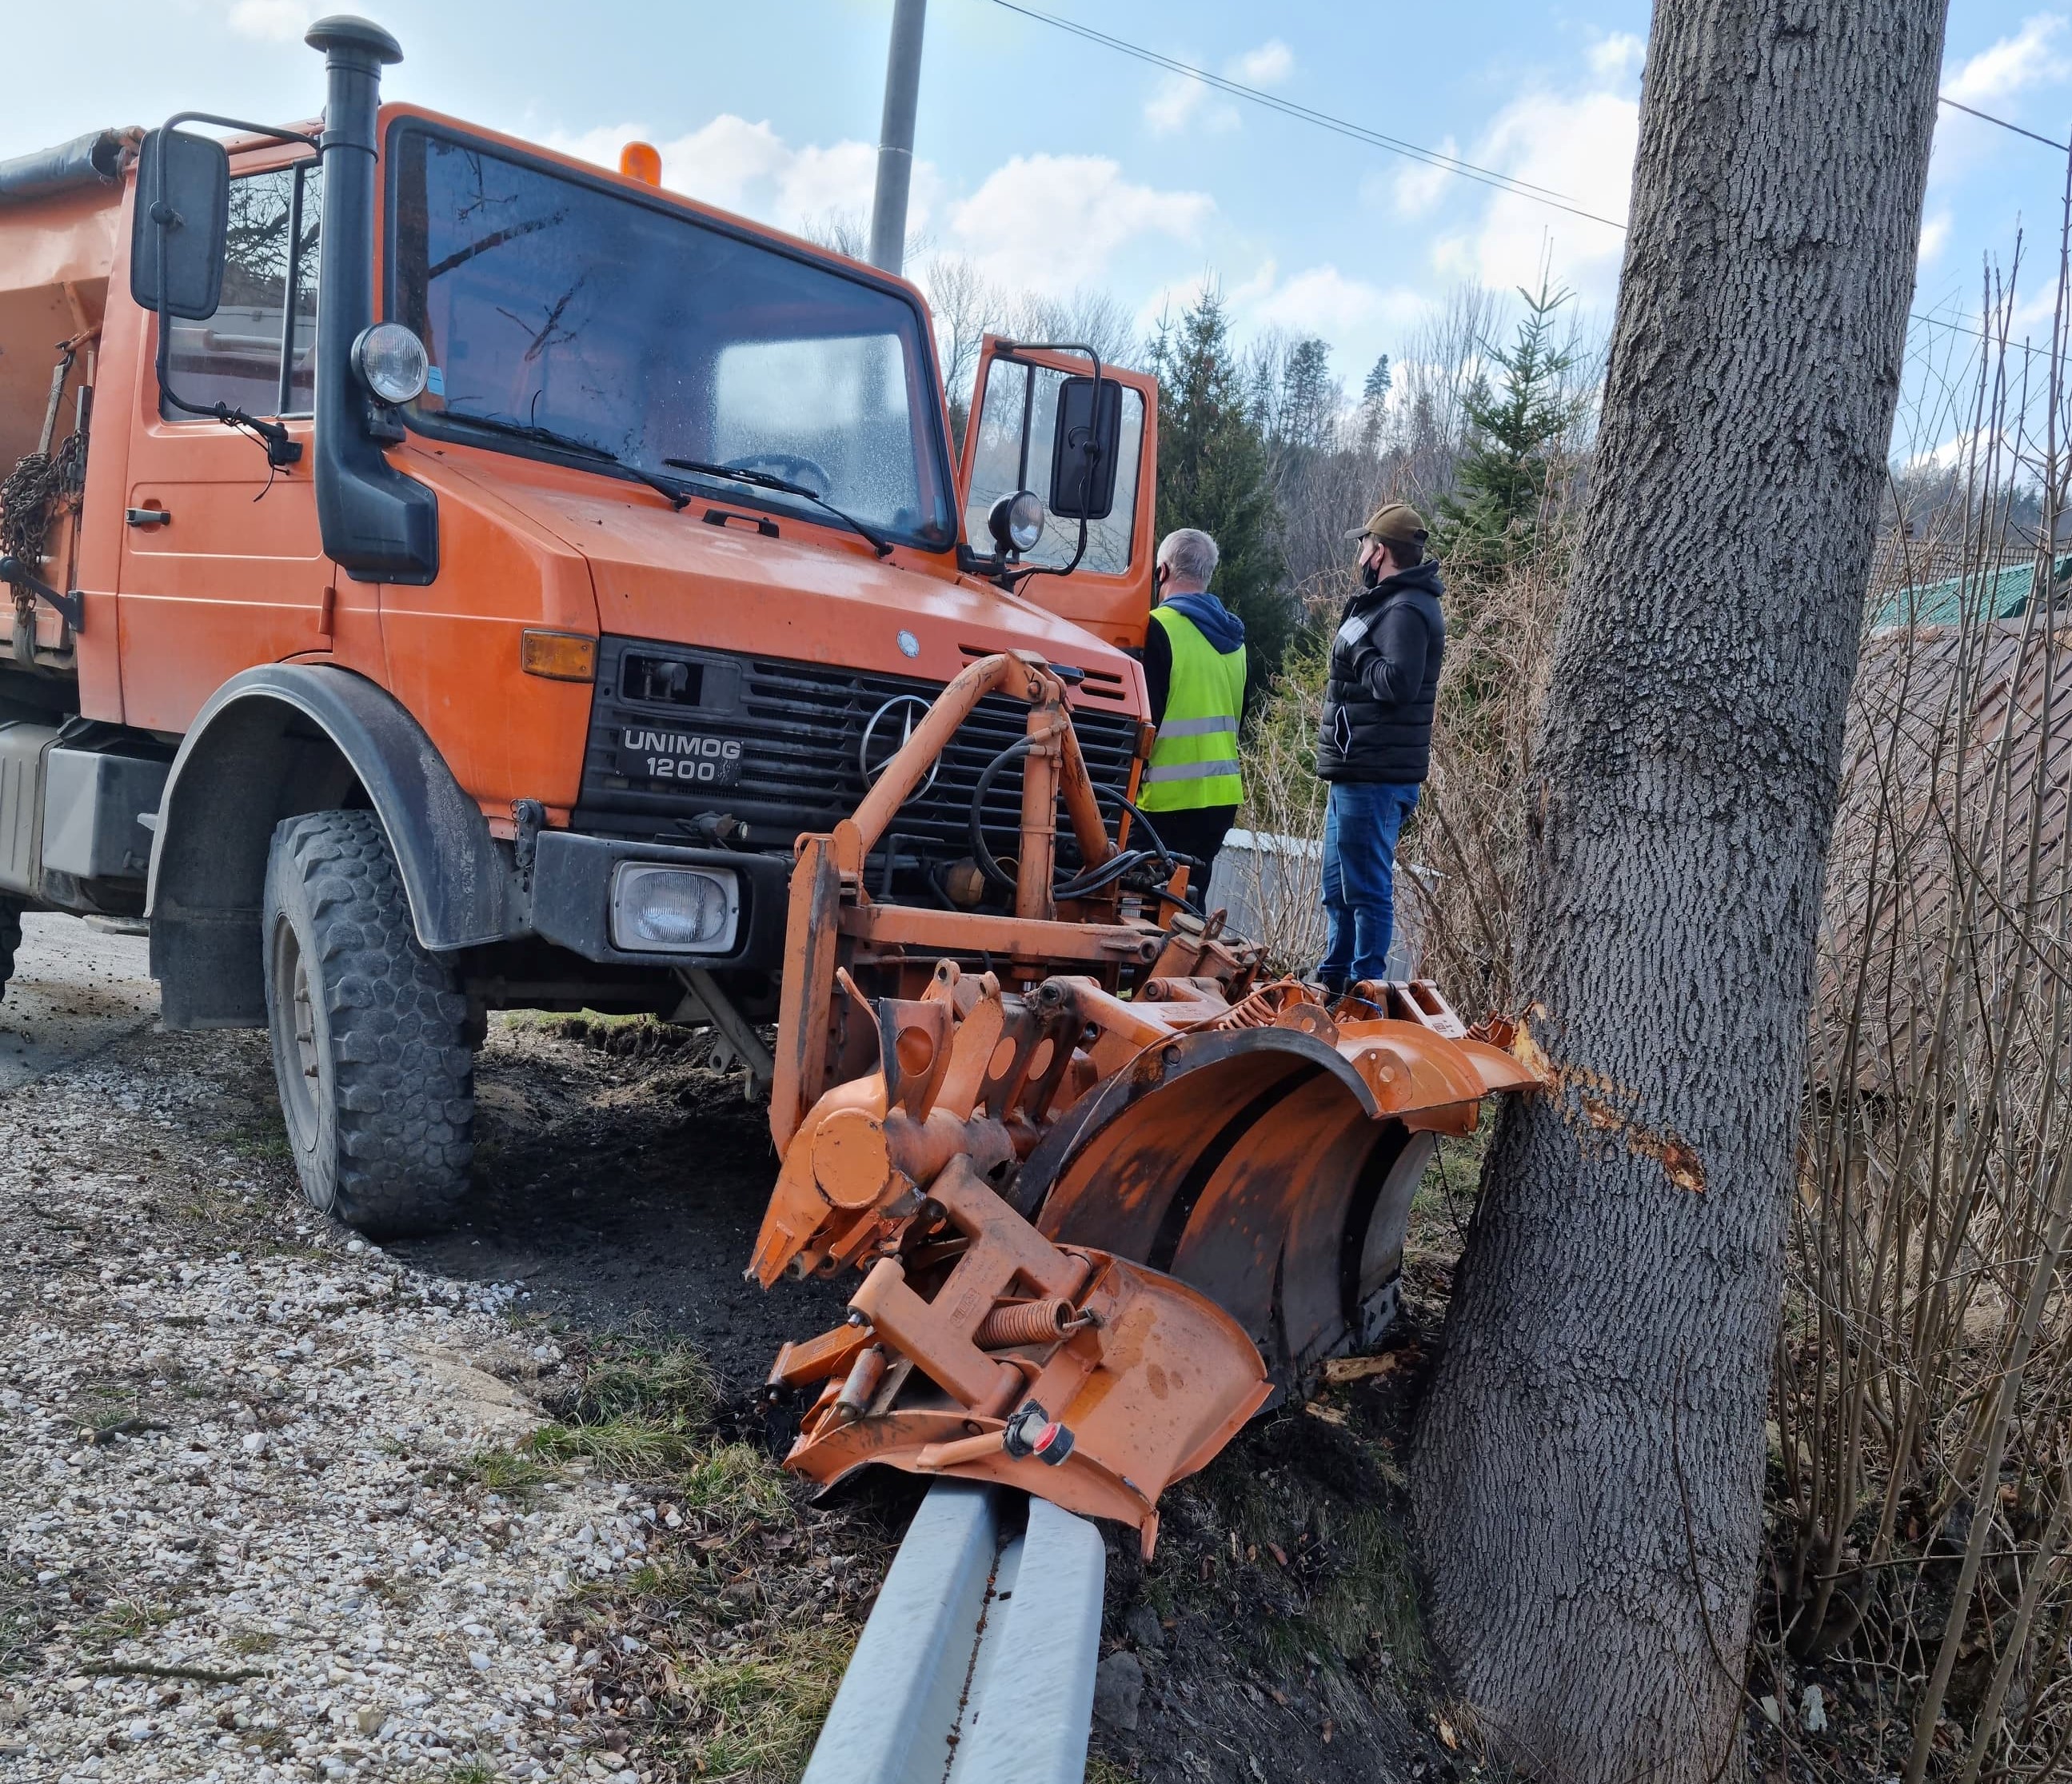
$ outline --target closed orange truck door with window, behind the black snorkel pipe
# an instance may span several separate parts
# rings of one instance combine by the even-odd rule
[[[162,408],[151,365],[157,321],[139,329],[116,582],[133,725],[182,731],[238,669],[329,644],[332,564],[317,535],[307,421],[319,182],[315,160],[236,170],[224,298],[207,321],[172,321],[168,367],[189,402],[288,419],[300,462],[274,470],[251,435]]]

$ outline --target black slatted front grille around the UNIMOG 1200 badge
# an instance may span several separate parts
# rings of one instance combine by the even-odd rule
[[[684,673],[675,673],[673,665],[684,665]],[[696,831],[700,814],[731,816],[746,825],[746,835],[731,839],[736,845],[789,854],[802,831],[833,829],[862,800],[866,781],[858,752],[872,715],[881,717],[870,736],[870,765],[883,767],[905,736],[908,715],[920,717],[920,704],[887,711],[887,702],[928,702],[941,692],[941,682],[910,675],[603,638],[576,827],[640,841],[684,841]],[[1138,721],[1127,713],[1084,707],[1075,707],[1071,717],[1088,773],[1113,821],[1115,804],[1106,796],[1129,785]],[[922,866],[972,852],[972,792],[986,762],[1024,736],[1026,721],[1024,702],[992,696],[957,729],[934,783],[908,800],[893,823],[895,897],[926,899]],[[665,733],[669,748],[684,748],[688,738],[715,756],[738,744],[738,779],[733,785],[673,785],[628,775],[620,752],[628,729]],[[995,777],[984,810],[992,850],[1011,854],[1021,821],[1019,762]],[[1059,866],[1069,870],[1077,860],[1071,829],[1061,818]],[[872,891],[881,889],[883,870],[881,854],[874,858]]]

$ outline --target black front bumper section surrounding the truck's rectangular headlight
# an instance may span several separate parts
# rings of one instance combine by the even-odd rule
[[[731,941],[713,947],[622,947],[613,930],[613,883],[622,866],[698,868],[731,881],[738,897]],[[574,831],[541,831],[533,854],[533,932],[584,959],[615,966],[750,968],[783,963],[792,864],[729,850],[624,843]]]

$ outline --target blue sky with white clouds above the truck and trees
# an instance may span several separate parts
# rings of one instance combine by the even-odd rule
[[[1032,0],[1160,56],[1560,193],[1492,191],[1146,66],[999,0],[932,0],[910,224],[1005,288],[1113,292],[1142,325],[1214,280],[1241,338],[1322,336],[1357,387],[1463,282],[1539,267],[1608,325],[1645,0]],[[17,10],[17,8],[10,8]],[[340,0],[75,0],[8,23],[0,157],[174,110],[311,116],[300,41]],[[404,46],[385,93],[615,164],[785,228],[870,205],[891,0],[365,0]],[[23,70],[48,79],[21,79]],[[1952,0],[1944,93],[2072,133],[2072,0]],[[1944,110],[1915,311],[1977,323],[2026,228],[2016,332],[2047,329],[2064,157]],[[1915,383],[1977,346],[1915,332]],[[1919,404],[1917,404],[1919,406]],[[1931,408],[1931,404],[1929,404]],[[1902,414],[1923,445],[1948,419]],[[1904,441],[1896,441],[1902,445]]]

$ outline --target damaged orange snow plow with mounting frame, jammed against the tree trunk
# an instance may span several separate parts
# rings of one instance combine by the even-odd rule
[[[887,918],[864,860],[959,704],[1003,686],[1030,700],[1015,912]],[[856,818],[800,839],[783,1164],[748,1274],[864,1272],[847,1322],[771,1370],[804,1401],[787,1467],[999,1481],[1129,1523],[1150,1554],[1171,1481],[1388,1324],[1434,1135],[1537,1080],[1508,1024],[1469,1032],[1421,980],[1330,1003],[1256,984],[1258,949],[1187,905],[1183,864],[1117,860],[1075,767],[1063,684],[986,659]],[[1069,910],[1051,897],[1061,796],[1067,885],[1102,887]]]

